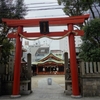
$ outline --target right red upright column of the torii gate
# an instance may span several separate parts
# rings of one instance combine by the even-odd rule
[[[73,31],[73,25],[68,25],[68,31]],[[75,50],[75,40],[74,34],[70,33],[69,39],[69,49],[70,49],[70,69],[71,69],[71,79],[72,79],[72,96],[79,96],[79,82],[78,82],[78,66],[76,61],[76,50]]]

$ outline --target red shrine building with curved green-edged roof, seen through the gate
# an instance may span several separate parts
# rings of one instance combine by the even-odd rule
[[[53,53],[32,65],[33,75],[64,75],[64,60]]]

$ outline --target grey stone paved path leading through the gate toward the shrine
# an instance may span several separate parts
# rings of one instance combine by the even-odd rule
[[[48,85],[48,77],[38,81],[38,88],[33,89],[30,95],[24,95],[20,98],[10,98],[10,96],[1,96],[0,100],[77,100],[64,93],[64,88],[53,82]],[[100,100],[100,97],[82,97],[80,100]]]

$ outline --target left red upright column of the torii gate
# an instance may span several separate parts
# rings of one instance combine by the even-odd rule
[[[16,51],[15,51],[15,64],[14,64],[14,81],[13,81],[13,93],[11,97],[19,97],[20,93],[20,66],[21,66],[21,54],[22,54],[22,41],[19,33],[23,32],[22,27],[17,29],[16,37]]]

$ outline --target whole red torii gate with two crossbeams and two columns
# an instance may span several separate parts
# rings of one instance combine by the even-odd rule
[[[78,68],[76,62],[76,51],[74,36],[82,36],[84,32],[82,30],[74,30],[73,25],[83,24],[83,22],[89,18],[89,15],[74,16],[74,17],[62,17],[62,18],[44,18],[44,19],[2,19],[10,27],[17,27],[17,32],[8,34],[8,38],[16,38],[16,51],[15,51],[15,65],[14,65],[14,81],[13,92],[14,97],[18,97],[20,94],[20,66],[21,66],[21,51],[22,41],[21,35],[24,37],[40,37],[40,36],[64,36],[68,33],[69,48],[70,48],[70,67],[72,78],[72,95],[79,96],[79,83],[78,83]],[[61,32],[49,32],[49,34],[40,34],[39,32],[27,33],[23,32],[23,27],[36,27],[39,26],[40,21],[48,21],[50,26],[67,25],[68,30]],[[78,34],[74,34],[78,33]]]

